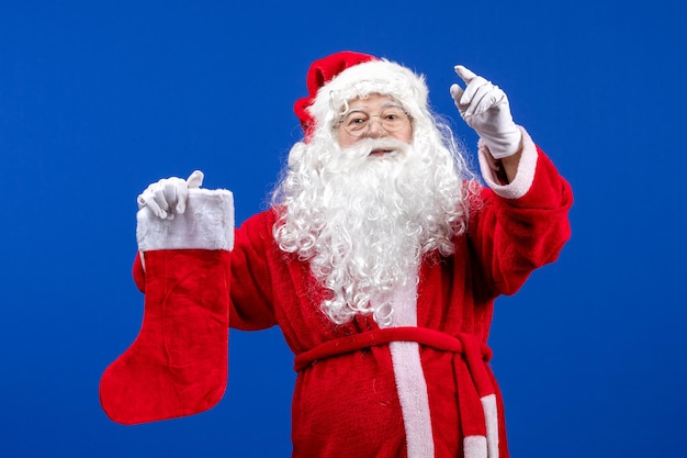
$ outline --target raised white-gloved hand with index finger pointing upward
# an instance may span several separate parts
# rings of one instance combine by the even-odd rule
[[[462,65],[455,66],[455,72],[465,81],[465,89],[451,85],[450,91],[463,120],[484,139],[495,159],[516,154],[522,134],[513,122],[506,93]]]

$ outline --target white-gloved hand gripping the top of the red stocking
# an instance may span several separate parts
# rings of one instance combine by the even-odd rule
[[[171,177],[154,182],[136,199],[138,210],[147,206],[157,217],[173,220],[174,214],[183,214],[187,210],[189,189],[200,188],[203,177],[202,171],[195,170],[185,180]]]

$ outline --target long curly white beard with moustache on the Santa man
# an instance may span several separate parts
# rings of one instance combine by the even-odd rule
[[[394,138],[329,149],[316,160],[316,152],[305,152],[316,167],[300,164],[282,182],[285,211],[275,238],[308,260],[330,291],[322,308],[331,321],[361,313],[388,324],[391,292],[416,281],[424,254],[452,253],[452,237],[464,228],[459,174],[446,148],[448,157],[438,160],[431,148]],[[379,149],[390,152],[371,155]]]

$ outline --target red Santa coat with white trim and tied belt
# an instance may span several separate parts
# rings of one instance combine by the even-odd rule
[[[491,187],[482,206],[455,237],[455,253],[427,256],[417,291],[397,292],[402,319],[388,328],[371,316],[329,321],[308,265],[274,242],[274,211],[235,231],[229,326],[278,325],[296,355],[294,457],[508,456],[486,346],[494,300],[556,259],[570,237],[572,204],[570,186],[527,133],[523,143],[510,185],[492,180],[481,159]],[[134,272],[148,293],[140,261]]]

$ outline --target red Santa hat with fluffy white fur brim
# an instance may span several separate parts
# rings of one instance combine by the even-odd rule
[[[412,118],[427,113],[425,77],[369,54],[342,51],[315,60],[306,85],[308,96],[294,104],[306,141],[318,126],[333,123],[348,101],[370,93],[393,97]]]

